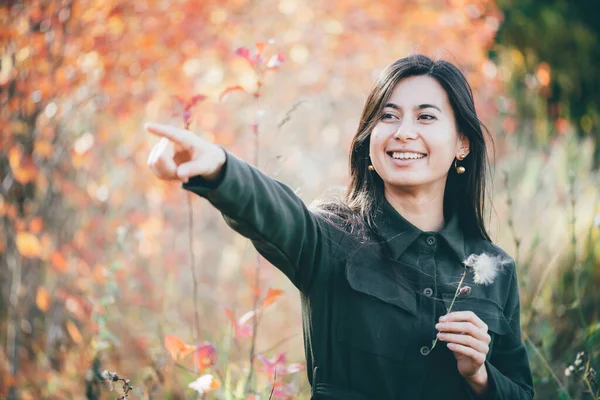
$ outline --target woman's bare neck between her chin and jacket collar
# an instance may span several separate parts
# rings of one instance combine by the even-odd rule
[[[385,188],[385,198],[398,213],[422,231],[444,227],[444,191]]]

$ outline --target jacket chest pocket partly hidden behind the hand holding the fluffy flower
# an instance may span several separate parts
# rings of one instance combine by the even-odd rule
[[[448,310],[450,304],[452,304],[454,293],[444,293],[442,297],[446,310]],[[488,326],[491,341],[486,355],[487,360],[492,357],[496,335],[510,335],[513,333],[508,319],[504,316],[504,309],[492,299],[475,296],[457,297],[452,306],[452,312],[454,311],[473,311]]]

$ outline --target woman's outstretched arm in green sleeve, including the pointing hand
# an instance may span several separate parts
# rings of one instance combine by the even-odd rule
[[[162,169],[158,167],[162,158],[154,160],[155,170],[176,177],[185,189],[206,198],[296,287],[306,292],[326,272],[323,269],[334,256],[342,231],[309,210],[291,188],[190,131],[157,124],[146,129],[189,153],[180,157],[187,161],[177,164],[169,160],[174,154],[165,151],[167,160],[162,161]]]

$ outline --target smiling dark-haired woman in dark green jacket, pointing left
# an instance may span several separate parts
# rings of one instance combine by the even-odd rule
[[[153,173],[206,198],[299,289],[311,398],[532,399],[515,264],[483,222],[482,126],[454,65],[395,61],[365,104],[345,199],[319,209],[192,132],[145,127],[161,136]],[[500,273],[468,272],[448,313],[482,254]]]

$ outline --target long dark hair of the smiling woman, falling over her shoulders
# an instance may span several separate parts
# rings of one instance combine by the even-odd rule
[[[379,76],[369,93],[358,130],[352,140],[350,185],[346,194],[341,202],[322,204],[320,208],[342,217],[352,230],[362,232],[364,236],[370,236],[369,232],[376,233],[374,216],[385,198],[383,180],[368,169],[371,132],[396,84],[404,78],[420,75],[430,76],[442,85],[454,110],[457,130],[470,142],[469,154],[461,161],[466,172],[458,175],[453,166],[448,171],[444,216],[448,218],[452,213],[458,213],[459,224],[465,236],[491,241],[483,215],[486,175],[489,169],[484,131],[490,140],[492,137],[477,116],[473,92],[462,72],[448,61],[434,61],[421,54],[394,61]]]

